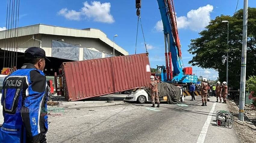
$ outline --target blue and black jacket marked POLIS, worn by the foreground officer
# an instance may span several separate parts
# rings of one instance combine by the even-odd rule
[[[26,142],[27,137],[40,138],[45,136],[48,130],[47,84],[44,85],[45,91],[33,91],[31,70],[45,76],[40,70],[27,68],[13,72],[4,80],[1,100],[4,115],[4,123],[0,129],[1,143]]]

